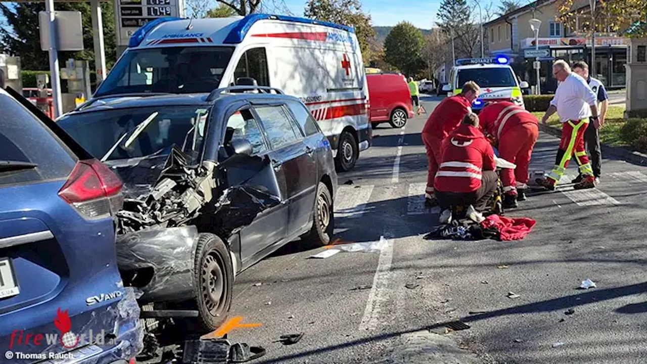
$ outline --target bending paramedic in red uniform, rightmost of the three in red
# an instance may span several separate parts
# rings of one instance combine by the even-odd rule
[[[522,106],[502,101],[492,102],[481,109],[479,123],[481,130],[494,139],[499,157],[517,165],[515,170],[503,168],[500,172],[503,207],[517,207],[517,200],[526,199],[530,157],[539,135],[538,120]]]

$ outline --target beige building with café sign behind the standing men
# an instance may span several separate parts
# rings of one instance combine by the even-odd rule
[[[536,85],[532,62],[537,57],[541,62],[542,93],[554,92],[557,87],[551,69],[554,60],[569,63],[584,60],[592,64],[588,0],[576,1],[574,8],[579,15],[571,22],[574,27],[570,28],[556,20],[556,0],[538,0],[485,23],[490,55],[505,54],[512,58],[515,71],[531,85]],[[542,21],[538,45],[529,23],[532,18]],[[614,33],[600,32],[608,30],[604,21],[600,23],[595,34],[595,77],[608,88],[625,87],[628,40]]]

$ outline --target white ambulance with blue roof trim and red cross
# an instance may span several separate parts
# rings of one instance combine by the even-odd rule
[[[359,152],[369,148],[369,97],[355,32],[313,19],[156,19],[133,34],[93,98],[208,93],[248,85],[250,78],[310,108],[340,170],[353,168]]]

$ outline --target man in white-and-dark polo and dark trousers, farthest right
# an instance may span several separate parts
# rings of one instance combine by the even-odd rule
[[[609,95],[604,88],[604,85],[597,78],[589,76],[589,65],[584,61],[573,63],[573,72],[579,74],[586,80],[598,96],[598,110],[600,111],[600,126],[595,127],[595,123],[589,123],[589,126],[584,131],[584,144],[586,149],[591,155],[591,168],[593,169],[593,176],[595,177],[595,184],[600,183],[600,170],[602,169],[602,149],[600,148],[600,128],[604,126],[604,117],[606,116],[609,108]],[[582,174],[580,173],[571,183],[580,183],[582,181]]]

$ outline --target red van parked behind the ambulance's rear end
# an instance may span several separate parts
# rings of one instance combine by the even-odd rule
[[[368,95],[371,100],[371,124],[389,122],[393,128],[402,128],[406,120],[415,116],[409,85],[402,74],[367,74]]]

